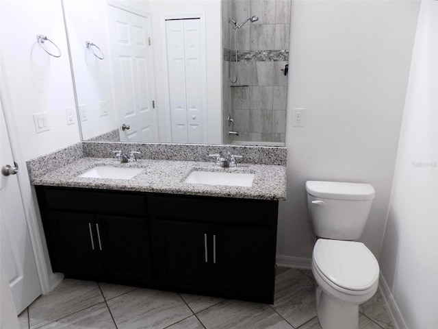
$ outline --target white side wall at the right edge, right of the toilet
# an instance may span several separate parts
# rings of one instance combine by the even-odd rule
[[[381,256],[398,328],[437,328],[438,1],[422,2]]]

